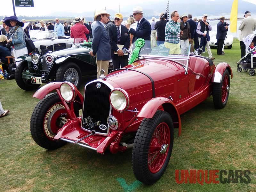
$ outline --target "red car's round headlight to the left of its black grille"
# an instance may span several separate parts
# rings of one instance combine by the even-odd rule
[[[74,84],[63,82],[60,85],[60,94],[65,101],[70,102],[76,98],[77,89]]]

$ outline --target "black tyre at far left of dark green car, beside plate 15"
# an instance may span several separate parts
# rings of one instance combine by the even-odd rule
[[[25,91],[32,91],[37,89],[40,84],[32,84],[30,79],[23,79],[22,73],[28,70],[28,64],[26,61],[21,62],[15,70],[15,81],[17,85],[25,90]]]

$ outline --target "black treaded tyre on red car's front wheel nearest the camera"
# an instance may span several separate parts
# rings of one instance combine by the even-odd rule
[[[158,167],[156,172],[152,172],[151,168],[150,168],[151,165],[149,165],[149,163],[148,163],[148,161],[151,161],[151,158],[148,159],[149,155],[150,155],[149,154],[150,145],[154,140],[153,138],[156,138],[154,136],[155,130],[158,128],[158,125],[162,125],[162,124],[168,125],[165,127],[165,129],[170,130],[170,132],[169,132],[170,136],[169,137],[167,136],[169,138],[169,143],[168,143],[169,146],[166,149],[166,150],[168,150],[168,152],[165,151],[164,154],[158,154],[159,151],[157,153],[154,152],[157,154],[155,159],[157,159],[158,155],[160,155],[160,156],[163,155],[165,157],[164,157],[164,160],[162,159],[162,163],[160,163],[162,165],[160,165]],[[172,154],[173,139],[174,139],[173,133],[174,132],[173,132],[172,117],[170,116],[169,113],[167,113],[165,111],[158,110],[158,111],[156,111],[156,114],[151,119],[148,119],[148,118],[143,119],[143,121],[141,122],[140,127],[136,133],[134,145],[133,145],[133,149],[132,149],[133,173],[139,181],[141,181],[147,185],[152,185],[163,175],[163,173],[169,163],[171,154]],[[166,141],[168,141],[168,140],[166,140]],[[166,143],[164,142],[164,145]],[[162,147],[164,145],[162,145]],[[156,154],[154,154],[154,155],[156,155]],[[154,160],[153,160],[153,162],[154,162]],[[159,162],[159,161],[156,161],[156,162]],[[150,163],[152,163],[152,162],[150,162]],[[154,165],[154,163],[153,163],[153,165]]]

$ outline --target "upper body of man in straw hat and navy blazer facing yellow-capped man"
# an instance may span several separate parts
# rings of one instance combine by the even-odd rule
[[[129,24],[126,24],[126,28],[133,35],[132,43],[139,38],[142,38],[145,41],[150,41],[151,25],[148,20],[144,18],[142,7],[133,8],[133,17],[135,21],[138,21],[136,30],[130,28]]]

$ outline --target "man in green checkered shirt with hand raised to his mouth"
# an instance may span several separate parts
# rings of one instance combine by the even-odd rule
[[[180,54],[180,15],[177,11],[172,12],[171,20],[165,26],[164,46],[169,48],[169,54]]]

